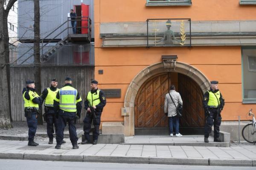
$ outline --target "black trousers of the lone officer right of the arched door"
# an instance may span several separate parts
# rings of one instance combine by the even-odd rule
[[[204,126],[204,137],[209,137],[209,133],[211,133],[213,125],[214,138],[218,138],[220,136],[221,115],[218,115],[218,109],[209,109],[209,111],[210,116],[206,115],[207,117]]]

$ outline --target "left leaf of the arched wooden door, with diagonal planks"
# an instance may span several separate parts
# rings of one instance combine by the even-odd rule
[[[165,73],[141,86],[135,99],[135,127],[168,127],[163,107],[170,84],[170,73]]]

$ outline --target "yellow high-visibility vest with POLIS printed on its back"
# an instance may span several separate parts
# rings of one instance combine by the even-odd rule
[[[61,110],[67,112],[76,112],[76,96],[77,90],[71,86],[64,86],[59,91],[60,102],[59,107]]]

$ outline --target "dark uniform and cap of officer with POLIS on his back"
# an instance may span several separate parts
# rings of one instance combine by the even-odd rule
[[[66,80],[69,80],[66,78]],[[71,79],[70,79],[71,80]],[[72,84],[65,84],[64,86],[72,86]],[[60,91],[58,91],[56,98],[60,98]],[[76,100],[80,99],[79,92],[77,92],[76,95]],[[56,142],[57,145],[55,146],[56,149],[60,149],[61,146],[61,141],[64,138],[64,129],[67,126],[68,123],[68,128],[69,128],[69,133],[70,133],[70,141],[73,145],[73,149],[77,149],[77,134],[76,134],[76,115],[80,118],[81,116],[81,110],[82,110],[82,101],[77,102],[76,104],[76,109],[77,112],[66,112],[64,110],[59,109],[59,102],[55,101],[53,102],[54,110],[56,112],[56,117],[58,118],[58,129],[56,133]],[[77,148],[76,148],[77,147]]]

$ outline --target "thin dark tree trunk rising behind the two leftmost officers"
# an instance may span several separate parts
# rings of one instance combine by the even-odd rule
[[[35,89],[41,94],[41,61],[40,61],[40,6],[39,0],[34,0],[34,66]],[[41,108],[40,108],[41,109]],[[43,124],[42,114],[38,117],[38,124]]]

